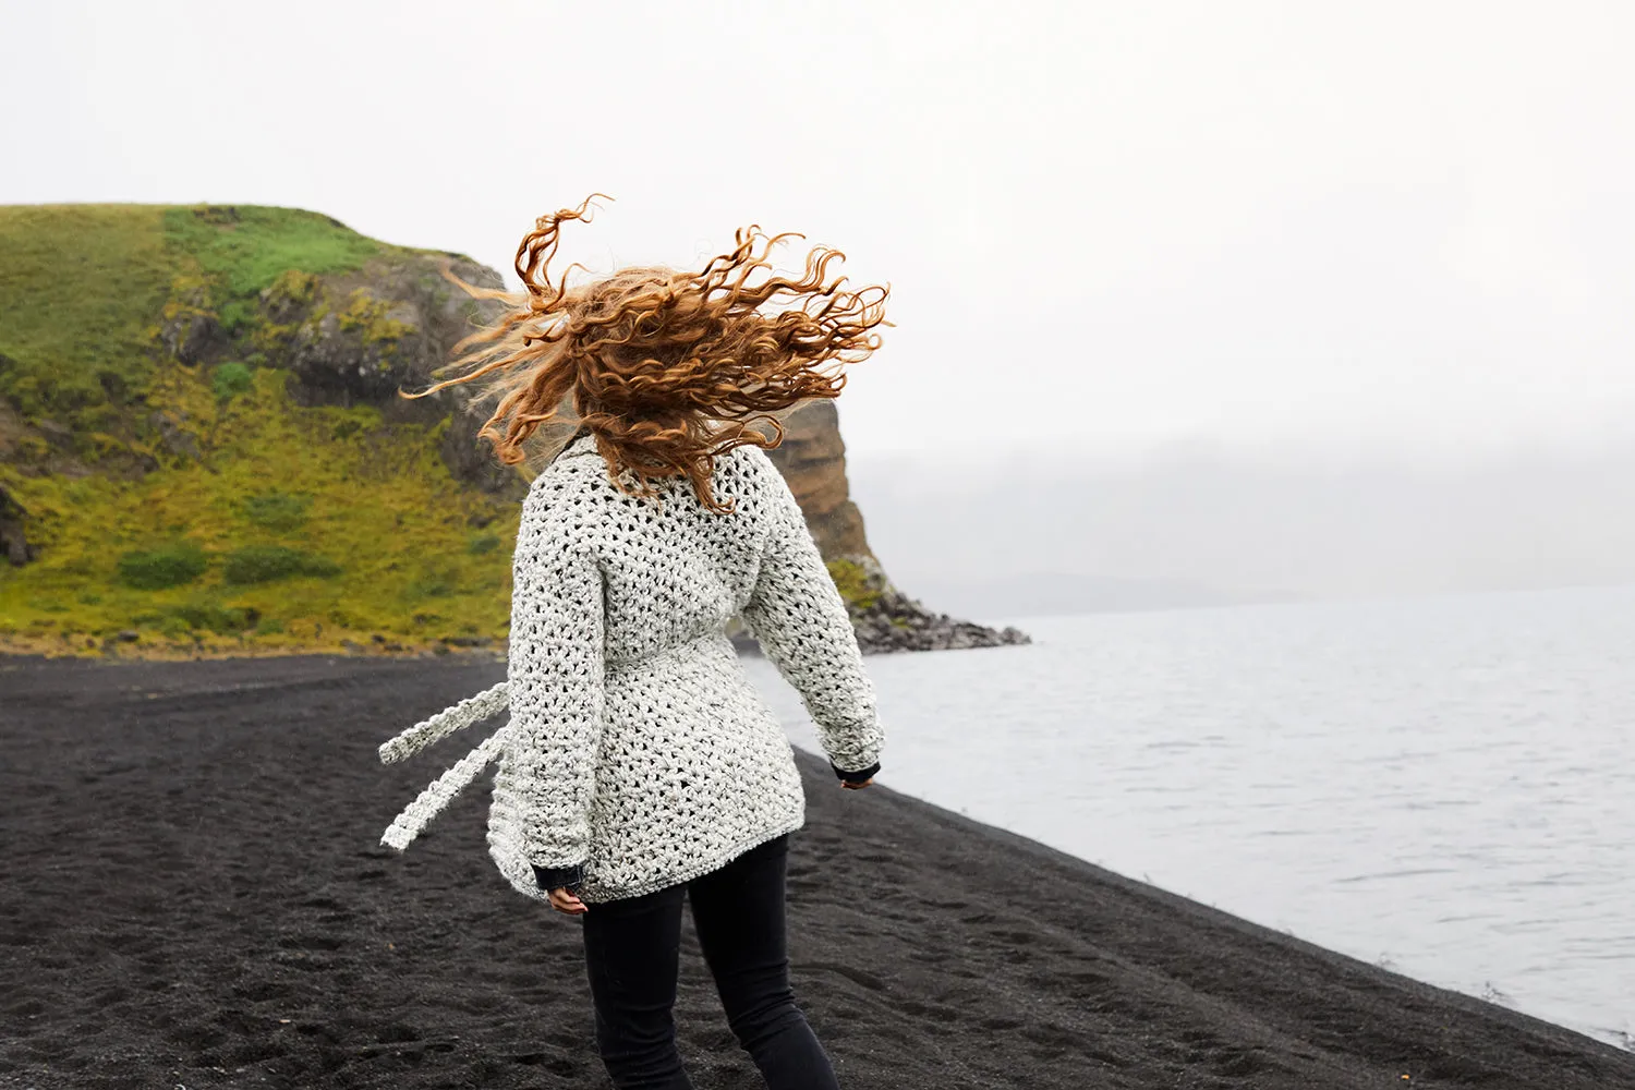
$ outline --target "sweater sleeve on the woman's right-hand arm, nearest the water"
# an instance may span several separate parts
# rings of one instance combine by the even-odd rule
[[[760,458],[768,533],[744,621],[801,695],[835,771],[878,768],[885,732],[857,629],[788,482]]]

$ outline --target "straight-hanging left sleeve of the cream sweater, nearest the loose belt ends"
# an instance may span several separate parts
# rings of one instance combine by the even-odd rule
[[[536,868],[576,868],[590,855],[590,801],[602,745],[602,570],[572,508],[549,487],[522,505],[512,561],[507,681],[522,838]]]

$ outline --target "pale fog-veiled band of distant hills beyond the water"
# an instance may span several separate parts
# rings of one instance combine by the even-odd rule
[[[948,611],[1635,582],[1635,444],[1465,467],[863,454],[850,477],[893,579]]]

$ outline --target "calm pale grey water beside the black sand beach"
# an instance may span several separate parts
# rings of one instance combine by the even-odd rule
[[[1012,623],[867,659],[881,783],[1635,1048],[1635,587]]]

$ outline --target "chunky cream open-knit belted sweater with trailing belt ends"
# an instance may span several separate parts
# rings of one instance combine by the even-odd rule
[[[510,706],[510,721],[386,830],[402,850],[497,762],[489,853],[518,892],[636,897],[713,871],[804,822],[790,742],[726,626],[742,616],[800,691],[835,773],[883,740],[845,603],[767,454],[620,492],[585,435],[531,484],[513,556],[507,680],[381,747],[392,762]]]

